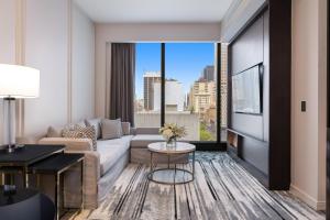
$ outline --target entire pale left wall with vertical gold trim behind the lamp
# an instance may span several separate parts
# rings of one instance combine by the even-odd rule
[[[94,34],[72,0],[0,0],[0,62],[41,70],[40,98],[24,101],[23,135],[94,117]],[[1,105],[1,134],[2,119]]]

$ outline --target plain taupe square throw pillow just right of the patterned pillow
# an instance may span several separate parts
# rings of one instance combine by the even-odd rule
[[[102,139],[119,139],[122,136],[122,127],[120,119],[103,119],[101,122]]]

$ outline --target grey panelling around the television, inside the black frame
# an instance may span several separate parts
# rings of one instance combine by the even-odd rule
[[[231,113],[231,129],[243,134],[243,161],[265,175],[270,174],[270,35],[268,11],[260,15],[231,45],[231,74],[263,63],[262,105],[260,116]]]

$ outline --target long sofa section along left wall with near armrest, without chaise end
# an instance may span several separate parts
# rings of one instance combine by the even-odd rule
[[[88,139],[65,139],[65,138],[44,138],[40,140],[41,144],[65,144],[67,153],[84,153],[84,199],[85,208],[97,208],[99,201],[105,199],[107,193],[113,185],[114,180],[124,169],[130,160],[130,141],[133,136],[125,135],[114,140],[98,140],[97,151],[92,150],[91,140]],[[77,173],[78,174],[78,173]],[[75,187],[78,183],[72,177],[66,180],[67,184]],[[70,188],[70,187],[66,187]],[[74,189],[69,189],[67,194],[73,194],[66,206],[75,207]],[[78,196],[77,196],[78,197]]]

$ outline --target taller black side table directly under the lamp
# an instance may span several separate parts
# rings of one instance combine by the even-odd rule
[[[7,150],[0,151],[1,169],[19,169],[22,172],[23,185],[29,187],[29,166],[47,158],[54,154],[63,153],[65,145],[36,145],[26,144],[15,148],[14,152],[8,153]]]

